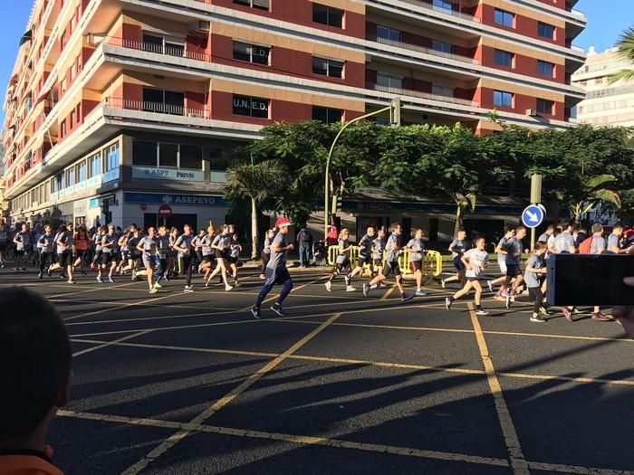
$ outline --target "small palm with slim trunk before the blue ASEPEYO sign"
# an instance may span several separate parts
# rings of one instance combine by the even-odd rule
[[[251,259],[257,258],[257,205],[281,191],[286,172],[279,160],[237,164],[226,171],[225,193],[229,198],[251,199]]]

